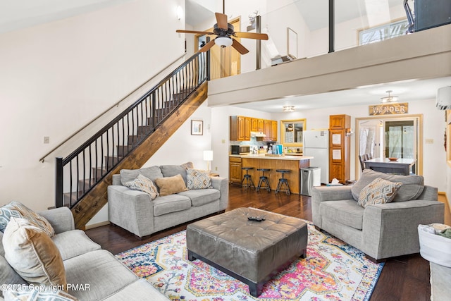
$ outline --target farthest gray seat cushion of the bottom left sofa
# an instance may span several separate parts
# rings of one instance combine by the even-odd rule
[[[99,244],[90,240],[85,231],[81,230],[58,233],[54,235],[51,240],[53,240],[56,247],[58,247],[63,260],[101,249]]]

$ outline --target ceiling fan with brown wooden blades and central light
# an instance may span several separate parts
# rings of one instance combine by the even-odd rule
[[[212,39],[201,49],[199,49],[199,52],[208,51],[211,47],[214,46],[214,44],[217,44],[221,47],[232,46],[233,48],[237,49],[240,54],[247,54],[249,50],[247,50],[246,47],[242,46],[242,44],[236,39],[233,39],[233,37],[243,37],[246,39],[268,39],[268,35],[266,35],[266,33],[235,32],[233,25],[227,22],[227,15],[223,13],[215,13],[215,16],[217,23],[213,27],[213,32],[196,30],[176,30],[176,32],[217,35],[215,39]]]

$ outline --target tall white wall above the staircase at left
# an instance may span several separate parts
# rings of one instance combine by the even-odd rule
[[[135,0],[0,35],[0,205],[54,205],[54,157],[83,141],[39,158],[183,54],[178,5]]]

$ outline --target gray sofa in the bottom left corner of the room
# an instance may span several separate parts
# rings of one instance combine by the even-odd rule
[[[85,232],[75,230],[70,209],[62,207],[42,211],[39,214],[44,216],[55,230],[56,234],[51,239],[63,258],[67,283],[74,288],[69,289],[67,293],[81,301],[168,300],[149,282],[133,274],[113,254],[101,250],[100,245],[90,240]],[[3,233],[0,232],[0,240],[2,239]],[[9,266],[4,255],[2,242],[0,244],[0,284],[26,285],[27,282]],[[77,285],[82,286],[76,289]],[[0,290],[0,300],[3,300],[1,293]]]

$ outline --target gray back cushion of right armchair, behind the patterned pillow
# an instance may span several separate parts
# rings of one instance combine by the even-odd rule
[[[351,192],[352,197],[356,201],[359,200],[360,191],[376,178],[382,178],[383,180],[389,180],[390,182],[401,182],[402,186],[397,191],[395,198],[392,202],[405,202],[411,199],[417,199],[421,192],[424,190],[424,178],[417,175],[393,175],[390,173],[381,173],[373,171],[371,169],[364,169],[362,176],[359,180],[352,185]]]

